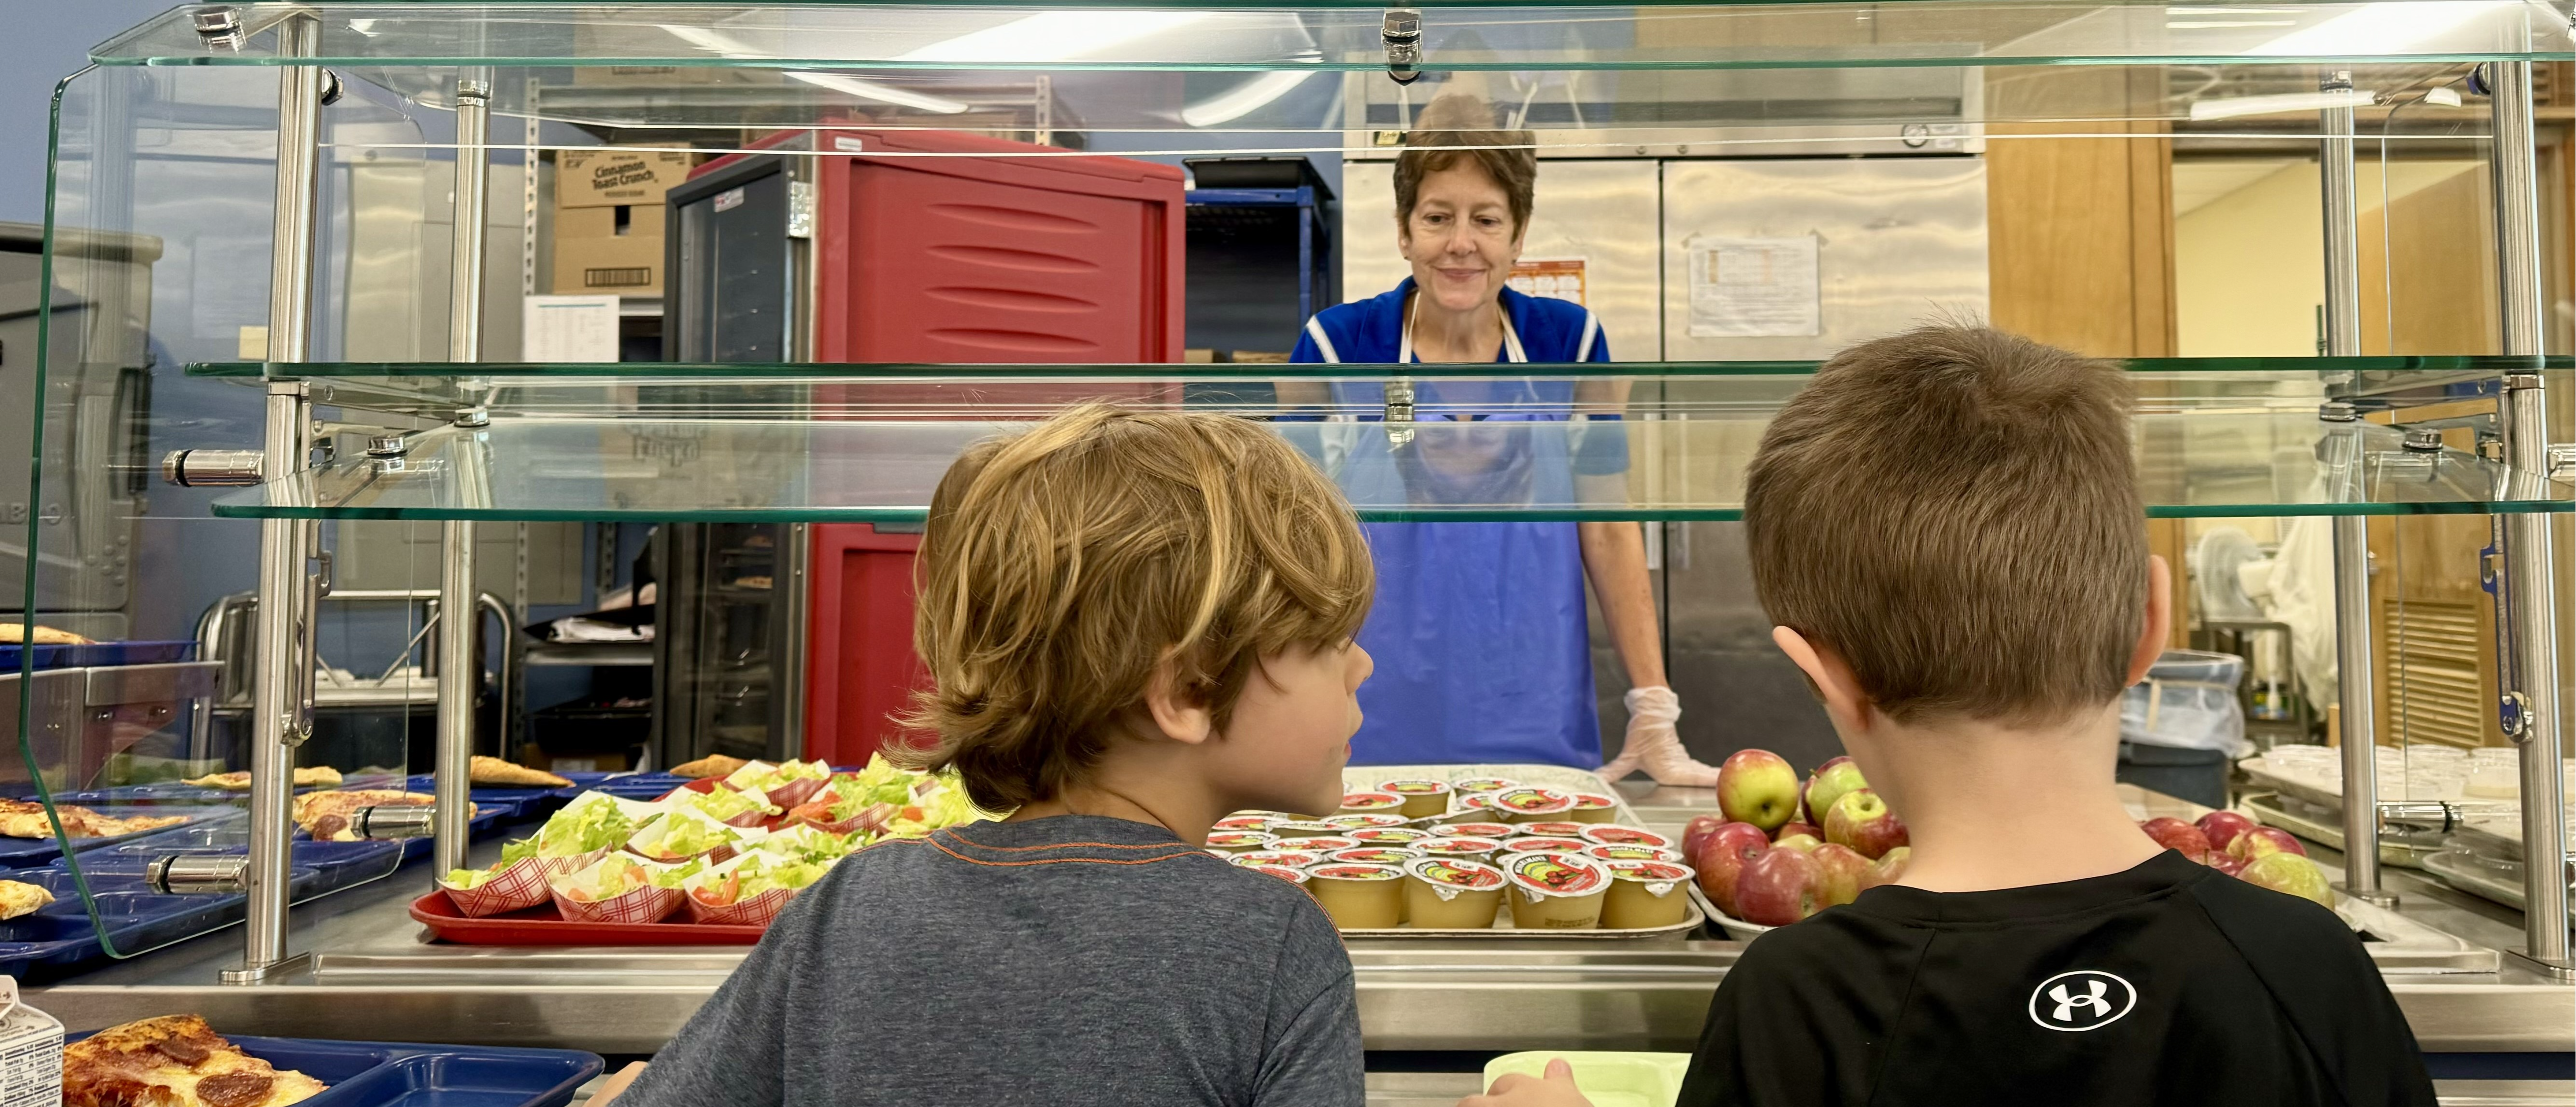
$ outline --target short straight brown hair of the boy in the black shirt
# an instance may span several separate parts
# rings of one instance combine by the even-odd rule
[[[1989,327],[1842,350],[1747,474],[1762,610],[1899,723],[2099,711],[2146,620],[2133,407],[2117,368]]]

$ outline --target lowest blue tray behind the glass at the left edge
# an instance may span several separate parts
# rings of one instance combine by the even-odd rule
[[[0,973],[62,976],[108,955],[98,942],[98,929],[90,927],[90,914],[80,906],[72,873],[39,868],[5,878],[41,886],[54,893],[54,901],[33,914],[0,922]],[[106,924],[118,953],[152,950],[242,922],[242,893],[162,896],[147,888],[139,875],[85,878],[98,901],[98,922]],[[291,883],[309,878],[312,870],[289,873]]]

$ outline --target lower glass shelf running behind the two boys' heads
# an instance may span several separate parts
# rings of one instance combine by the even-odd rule
[[[1301,376],[1278,366],[1159,366],[1162,376],[1072,366],[979,378],[940,366],[951,376],[827,381],[760,378],[742,366],[662,366],[732,378],[631,373],[654,366],[621,376],[495,373],[479,391],[487,427],[412,433],[399,461],[340,458],[227,494],[214,512],[920,520],[938,476],[969,443],[1069,402],[1115,399],[1273,420],[1373,520],[1731,520],[1765,425],[1806,376],[1772,363],[1759,373],[1726,366],[1698,376],[1662,373],[1674,366],[1417,373],[1419,420],[1401,445],[1381,422],[1383,378],[1350,366]],[[2138,389],[2138,479],[2151,515],[2576,512],[2576,484],[2463,451],[2409,453],[2388,425],[2318,420],[2329,381],[2313,368],[2143,368],[2128,378]]]

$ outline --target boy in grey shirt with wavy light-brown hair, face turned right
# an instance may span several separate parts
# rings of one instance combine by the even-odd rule
[[[618,1107],[1358,1107],[1340,935],[1203,850],[1340,806],[1350,505],[1260,422],[1079,407],[963,456],[920,556],[907,757],[1015,814],[842,860]]]

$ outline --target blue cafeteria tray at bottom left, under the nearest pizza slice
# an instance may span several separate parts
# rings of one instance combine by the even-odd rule
[[[605,1066],[598,1053],[580,1050],[224,1037],[276,1068],[330,1084],[304,1099],[307,1107],[562,1107]]]

